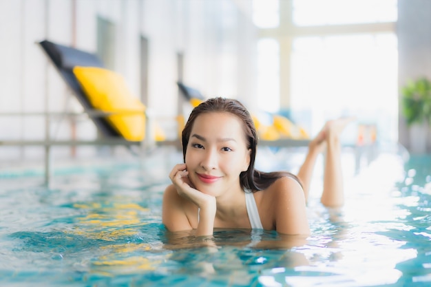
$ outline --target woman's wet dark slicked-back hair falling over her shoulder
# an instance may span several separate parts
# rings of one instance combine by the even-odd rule
[[[249,111],[240,103],[240,101],[232,98],[210,98],[200,103],[191,111],[189,119],[182,130],[182,156],[185,161],[187,145],[189,145],[189,138],[191,136],[191,129],[195,123],[196,118],[201,114],[211,112],[225,112],[238,116],[242,120],[244,134],[246,136],[247,149],[250,149],[250,164],[246,171],[240,173],[240,185],[243,190],[260,191],[267,189],[278,178],[287,176],[299,182],[298,178],[287,171],[273,171],[263,172],[255,169],[255,157],[257,149],[257,131],[251,118]],[[299,182],[301,184],[301,182]],[[302,184],[301,184],[302,185]]]

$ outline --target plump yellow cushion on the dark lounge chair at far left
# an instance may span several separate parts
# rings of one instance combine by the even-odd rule
[[[127,88],[123,76],[100,67],[74,67],[73,72],[94,107],[126,140],[145,137],[145,105]]]

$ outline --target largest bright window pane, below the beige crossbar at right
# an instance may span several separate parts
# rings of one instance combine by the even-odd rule
[[[380,139],[396,140],[397,59],[391,33],[297,38],[291,109],[313,115],[313,133],[329,118],[357,116],[386,127]]]

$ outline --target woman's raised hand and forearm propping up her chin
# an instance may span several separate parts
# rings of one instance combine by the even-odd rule
[[[187,198],[199,208],[199,223],[196,235],[212,235],[216,211],[215,197],[195,189],[188,175],[186,164],[176,164],[171,173],[169,173],[169,178],[174,187],[176,187],[178,194]]]

